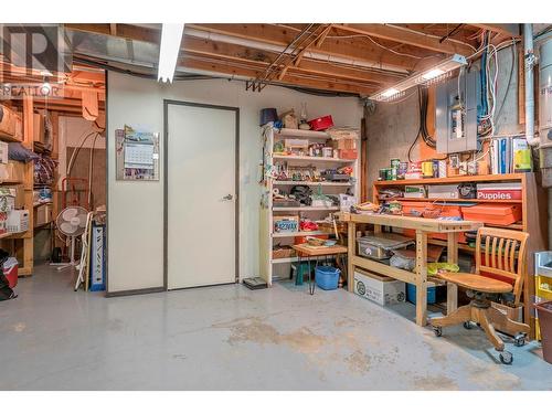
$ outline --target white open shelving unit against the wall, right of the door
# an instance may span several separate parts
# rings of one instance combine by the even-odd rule
[[[327,182],[327,181],[291,181],[291,180],[276,180],[272,177],[265,177],[264,180],[264,200],[261,208],[261,276],[270,286],[273,280],[278,277],[287,277],[289,265],[297,261],[297,257],[273,258],[273,246],[277,243],[285,242],[293,244],[293,238],[296,236],[322,235],[329,234],[325,231],[316,232],[293,232],[293,233],[274,233],[273,223],[275,214],[300,214],[311,220],[320,220],[329,213],[338,212],[339,206],[274,206],[272,193],[274,189],[284,189],[289,191],[293,185],[308,185],[316,192],[317,188],[322,188],[325,194],[337,195],[343,193],[347,189],[360,197],[360,171],[359,160],[329,158],[329,157],[306,157],[306,156],[286,156],[280,153],[273,153],[274,142],[286,138],[302,138],[308,139],[309,144],[323,142],[330,139],[327,132],[300,130],[300,129],[270,129],[265,134],[264,142],[264,157],[266,166],[274,166],[275,163],[287,162],[289,167],[305,167],[316,166],[319,169],[336,169],[344,166],[353,168],[353,180],[351,182]],[[360,146],[360,142],[358,142]],[[275,267],[278,266],[278,267]]]

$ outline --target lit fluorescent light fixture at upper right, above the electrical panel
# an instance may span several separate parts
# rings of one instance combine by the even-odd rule
[[[386,89],[383,89],[381,92],[378,92],[376,94],[370,96],[370,99],[372,100],[392,100],[399,96],[402,96],[403,93],[411,87],[417,86],[417,85],[428,85],[435,82],[440,81],[442,78],[448,76],[452,71],[467,65],[468,61],[466,60],[465,56],[455,54],[454,56],[438,63],[437,65],[423,71],[423,72],[417,72],[404,81],[401,81],[396,85],[393,85],[393,87],[389,87]]]

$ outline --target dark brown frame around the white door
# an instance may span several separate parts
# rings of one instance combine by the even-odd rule
[[[234,150],[234,279],[240,283],[240,108],[234,106],[201,104],[197,102],[163,99],[163,288],[169,289],[169,105],[190,106],[206,109],[231,110],[235,113],[235,150]],[[184,288],[190,289],[190,288]],[[173,289],[176,290],[176,289]]]

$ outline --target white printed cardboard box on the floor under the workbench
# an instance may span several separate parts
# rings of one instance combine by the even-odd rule
[[[354,293],[381,306],[402,304],[406,299],[405,283],[378,276],[365,270],[354,270]]]

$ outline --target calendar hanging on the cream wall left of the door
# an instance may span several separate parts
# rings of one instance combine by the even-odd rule
[[[134,129],[115,130],[117,180],[159,180],[159,134]]]

